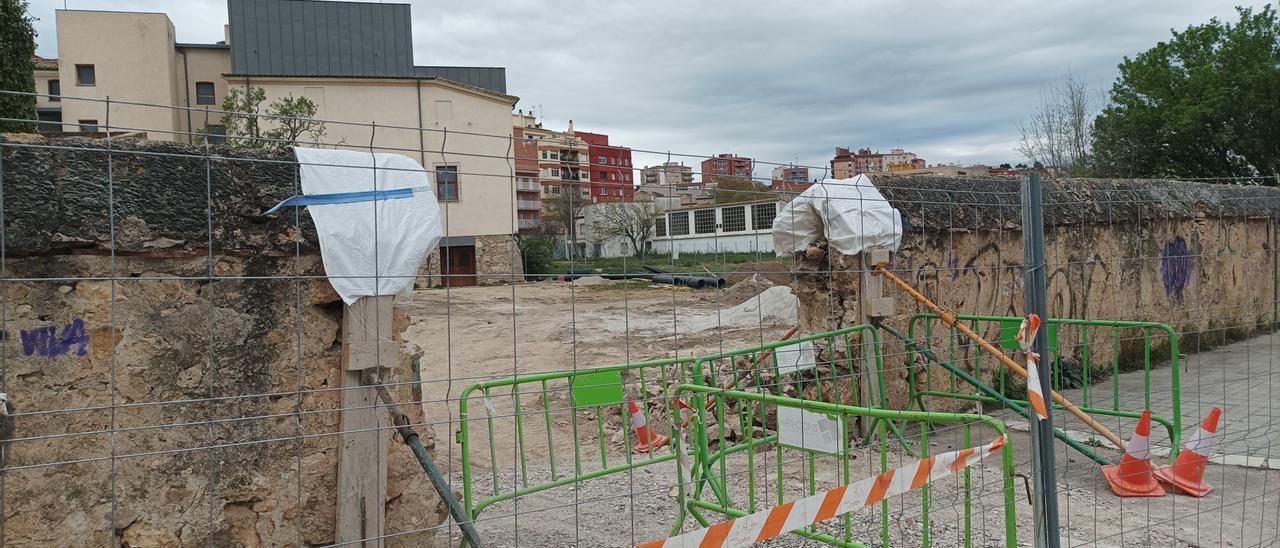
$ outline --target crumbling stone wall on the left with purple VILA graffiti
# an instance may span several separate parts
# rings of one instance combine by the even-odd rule
[[[0,145],[3,543],[333,543],[342,302],[306,211],[260,216],[294,192],[291,156],[20,140]],[[388,533],[442,522],[385,438]]]

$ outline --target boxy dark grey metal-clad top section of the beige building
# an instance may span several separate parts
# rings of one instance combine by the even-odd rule
[[[232,74],[412,78],[408,4],[228,0]]]

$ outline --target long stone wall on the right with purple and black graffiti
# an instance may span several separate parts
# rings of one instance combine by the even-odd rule
[[[902,246],[892,255],[896,275],[956,314],[1024,314],[1016,181],[873,181],[906,218]],[[1044,218],[1051,318],[1170,324],[1181,335],[1183,353],[1270,329],[1276,319],[1280,189],[1167,181],[1051,182],[1044,188]],[[803,333],[861,321],[859,257],[828,256],[818,242],[808,254],[797,254],[796,269]],[[905,332],[909,316],[925,310],[891,283],[882,286],[899,312],[887,323]],[[998,341],[1000,326],[986,324],[982,334]],[[1121,369],[1142,364],[1138,330],[1093,329],[1088,346],[1079,328],[1062,328],[1056,335],[1064,371],[1087,361],[1100,378],[1117,361]],[[918,338],[924,338],[923,330]],[[887,392],[891,405],[901,407],[906,355],[892,337],[883,339]],[[1152,341],[1157,359],[1167,352],[1167,337],[1156,334]],[[950,355],[943,332],[931,342]],[[961,343],[955,360],[973,371],[979,353]],[[982,360],[983,376],[991,380],[993,361]],[[947,378],[938,366],[933,374]],[[938,402],[936,408],[948,407],[964,405]]]

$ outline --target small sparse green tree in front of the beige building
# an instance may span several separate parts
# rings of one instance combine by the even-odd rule
[[[315,101],[289,93],[288,97],[271,101],[265,117],[262,101],[266,101],[266,90],[261,87],[228,90],[227,99],[223,100],[228,145],[242,149],[284,149],[297,145],[303,134],[311,142],[324,138],[324,122],[315,120],[320,110]]]

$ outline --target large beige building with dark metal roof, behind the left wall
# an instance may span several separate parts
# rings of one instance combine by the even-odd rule
[[[445,239],[429,270],[449,277],[431,279],[520,275],[506,159],[517,97],[504,69],[413,65],[407,4],[228,0],[228,14],[224,41],[180,44],[163,13],[58,10],[59,59],[36,65],[37,90],[59,95],[38,101],[42,128],[220,142],[229,88],[262,88],[264,110],[305,96],[326,120],[321,145],[372,146],[434,172]]]

